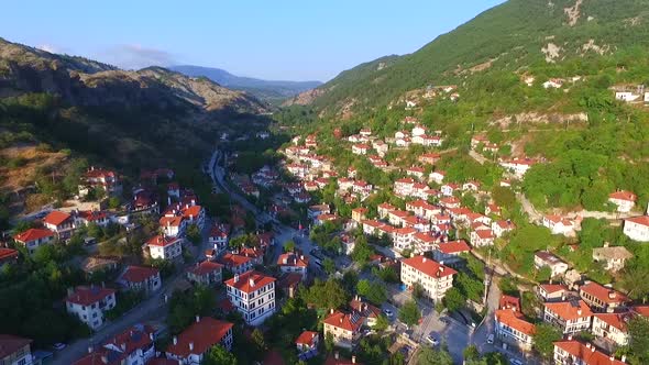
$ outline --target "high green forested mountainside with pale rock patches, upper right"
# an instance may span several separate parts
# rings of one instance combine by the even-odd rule
[[[488,71],[605,62],[649,46],[648,9],[649,0],[509,0],[413,54],[389,58],[387,67],[374,60],[342,73],[312,92],[312,104],[332,112],[374,108]]]

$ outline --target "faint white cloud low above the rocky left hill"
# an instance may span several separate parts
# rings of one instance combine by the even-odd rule
[[[124,69],[140,69],[148,66],[169,66],[176,62],[175,55],[164,49],[144,47],[139,44],[121,44],[97,55],[105,63]]]

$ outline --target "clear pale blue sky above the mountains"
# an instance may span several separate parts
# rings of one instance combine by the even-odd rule
[[[191,64],[324,81],[415,52],[503,1],[7,1],[0,36],[125,68]]]

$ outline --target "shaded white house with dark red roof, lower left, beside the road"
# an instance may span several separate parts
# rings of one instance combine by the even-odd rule
[[[103,312],[114,308],[116,291],[98,286],[80,286],[68,289],[65,299],[68,313],[74,314],[92,330],[99,329],[103,322]]]

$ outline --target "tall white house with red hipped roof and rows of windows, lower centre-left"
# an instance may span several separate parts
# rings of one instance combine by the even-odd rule
[[[250,270],[226,281],[230,302],[249,325],[258,325],[275,312],[275,281],[272,276]]]

